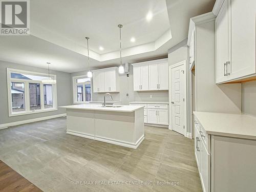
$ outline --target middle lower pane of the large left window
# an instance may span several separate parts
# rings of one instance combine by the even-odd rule
[[[29,101],[30,101],[30,110],[41,109],[39,83],[29,83]]]

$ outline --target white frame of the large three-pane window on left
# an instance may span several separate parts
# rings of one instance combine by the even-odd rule
[[[6,75],[7,75],[7,94],[8,94],[8,114],[9,117],[12,116],[19,116],[19,115],[28,115],[34,113],[42,113],[42,112],[50,112],[50,111],[57,111],[57,84],[52,85],[52,99],[53,99],[53,107],[45,109],[44,105],[44,83],[40,80],[30,80],[30,79],[16,79],[11,78],[11,73],[24,73],[28,75],[42,75],[48,77],[48,73],[39,73],[39,72],[32,72],[32,71],[25,71],[25,70],[18,70],[18,69],[10,69],[6,68]],[[57,76],[54,74],[50,74],[50,77],[57,79]],[[12,94],[11,94],[11,82],[23,82],[25,84],[25,111],[20,112],[13,112],[12,111]],[[30,110],[30,93],[29,93],[29,83],[39,83],[40,84],[40,106],[41,109],[39,110]],[[47,83],[45,83],[47,84]]]

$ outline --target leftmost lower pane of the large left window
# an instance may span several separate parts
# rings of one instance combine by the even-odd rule
[[[24,91],[24,82],[11,82],[12,112],[25,111]]]

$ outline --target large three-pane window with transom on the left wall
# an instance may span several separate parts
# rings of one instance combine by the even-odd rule
[[[57,110],[56,84],[42,83],[46,78],[45,73],[7,68],[9,116]]]

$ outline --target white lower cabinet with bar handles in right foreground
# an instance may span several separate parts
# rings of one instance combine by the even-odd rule
[[[203,191],[255,191],[256,140],[206,134],[199,120],[195,158]]]

